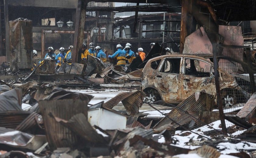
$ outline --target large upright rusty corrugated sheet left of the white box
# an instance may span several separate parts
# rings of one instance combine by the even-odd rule
[[[58,99],[38,102],[44,120],[46,138],[51,149],[72,148],[80,140],[73,131],[56,122],[49,114],[52,113],[53,116],[69,120],[74,115],[83,113],[87,118],[87,104],[91,99],[89,97],[86,99]]]

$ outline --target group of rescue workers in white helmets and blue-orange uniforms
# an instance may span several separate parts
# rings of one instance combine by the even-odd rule
[[[151,48],[155,45],[155,43],[151,43]],[[125,67],[126,64],[131,64],[132,61],[140,56],[141,60],[144,61],[146,57],[146,53],[144,53],[143,48],[138,48],[137,53],[134,53],[132,50],[132,45],[130,43],[126,43],[123,48],[120,44],[116,45],[117,51],[113,55],[108,55],[108,58],[116,59],[116,65]],[[165,48],[167,52],[169,48]],[[53,59],[56,63],[56,69],[58,69],[62,63],[72,64],[72,53],[73,46],[69,46],[67,53],[64,53],[65,48],[60,47],[59,54],[55,55],[53,47],[48,47],[48,53],[45,55],[44,59]],[[34,56],[37,56],[37,51],[33,50]],[[93,57],[97,57],[101,59],[103,62],[107,61],[106,54],[102,51],[100,46],[94,45],[94,43],[89,44],[89,49],[87,49],[87,45],[83,43],[82,51],[80,52],[81,61],[87,60],[87,56],[91,55]]]

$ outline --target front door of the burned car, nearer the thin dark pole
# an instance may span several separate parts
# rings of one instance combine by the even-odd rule
[[[183,58],[181,82],[181,98],[186,99],[195,92],[205,90],[215,95],[215,80],[210,63],[197,58]]]

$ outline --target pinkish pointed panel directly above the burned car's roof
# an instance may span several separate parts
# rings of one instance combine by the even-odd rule
[[[203,27],[200,27],[185,38],[183,53],[212,54],[212,43]]]

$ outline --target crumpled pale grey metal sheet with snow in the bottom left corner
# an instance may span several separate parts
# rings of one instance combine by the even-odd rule
[[[17,130],[0,127],[0,144],[5,144],[16,148],[37,150],[44,143],[46,143],[46,138],[44,135],[32,135]]]

